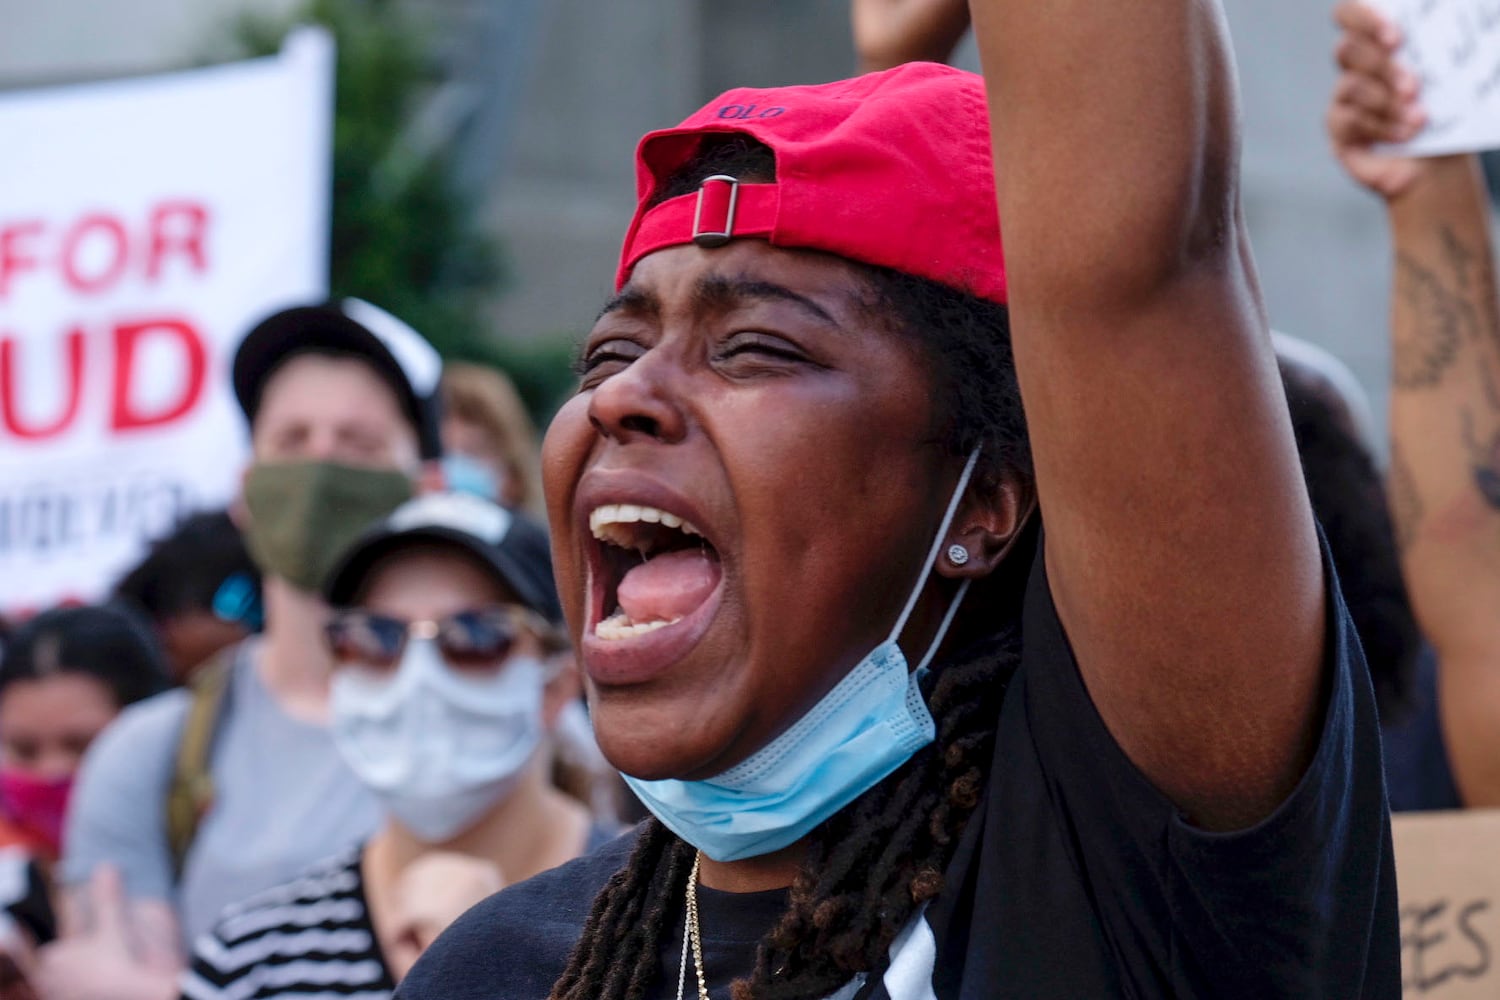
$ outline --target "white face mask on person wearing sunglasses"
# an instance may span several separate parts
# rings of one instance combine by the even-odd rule
[[[542,742],[544,688],[537,660],[460,676],[430,639],[412,637],[394,676],[334,673],[333,741],[402,826],[441,843],[516,787]]]

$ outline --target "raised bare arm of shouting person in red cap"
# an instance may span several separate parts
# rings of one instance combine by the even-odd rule
[[[1047,568],[1116,741],[1192,822],[1316,745],[1324,589],[1239,211],[1215,0],[972,0]]]

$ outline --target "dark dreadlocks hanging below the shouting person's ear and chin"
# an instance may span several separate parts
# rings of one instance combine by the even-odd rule
[[[933,673],[936,741],[813,831],[786,913],[760,942],[754,970],[734,984],[735,1000],[816,1000],[884,966],[906,922],[942,891],[984,793],[1018,652],[1012,624]],[[550,1000],[645,997],[694,853],[658,820],[642,825],[630,861],[594,898]]]

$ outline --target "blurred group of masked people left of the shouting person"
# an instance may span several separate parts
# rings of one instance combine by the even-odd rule
[[[348,985],[390,990],[464,909],[618,832],[510,379],[358,300],[266,318],[232,373],[234,508],[6,636],[10,988],[176,996],[194,942],[274,934],[254,915],[302,877],[381,928]],[[248,975],[222,954],[189,996]]]

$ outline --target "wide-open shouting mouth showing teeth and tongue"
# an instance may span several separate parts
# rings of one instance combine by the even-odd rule
[[[714,546],[670,511],[603,504],[590,513],[588,528],[600,543],[592,628],[600,640],[669,628],[706,604],[723,579]]]

